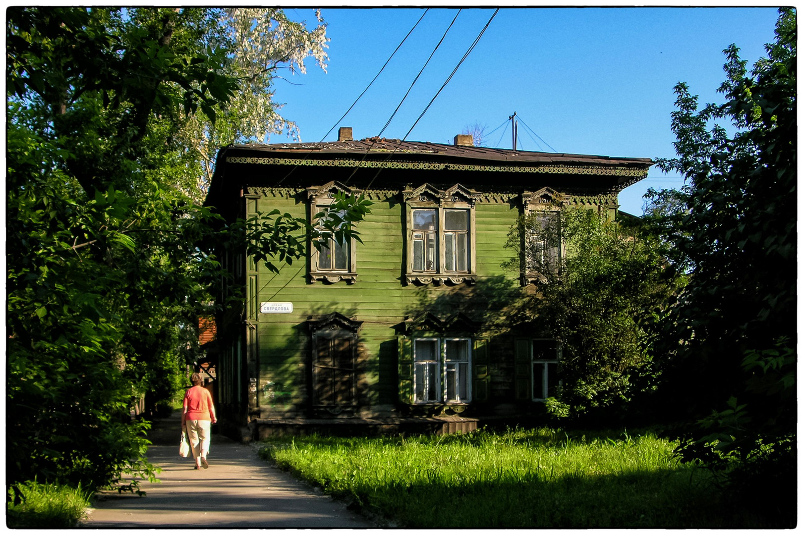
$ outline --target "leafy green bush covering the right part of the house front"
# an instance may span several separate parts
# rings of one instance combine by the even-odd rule
[[[589,209],[532,213],[512,229],[507,267],[538,274],[514,317],[562,346],[557,417],[600,416],[652,387],[654,324],[683,283],[661,241]]]

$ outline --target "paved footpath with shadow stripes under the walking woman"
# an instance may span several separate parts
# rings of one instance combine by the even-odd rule
[[[254,446],[212,435],[208,469],[178,456],[181,420],[157,421],[148,458],[161,483],[143,483],[147,496],[105,493],[85,528],[371,528],[363,517],[323,492],[271,468]],[[175,444],[173,444],[175,443]]]

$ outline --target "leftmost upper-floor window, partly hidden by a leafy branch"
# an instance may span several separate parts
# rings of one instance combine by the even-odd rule
[[[334,181],[308,188],[310,219],[324,212],[332,204],[335,192],[353,193],[351,189]],[[342,217],[342,213],[339,214]],[[309,282],[357,282],[357,240],[337,241],[334,236],[324,236],[320,249],[315,244],[309,248]]]

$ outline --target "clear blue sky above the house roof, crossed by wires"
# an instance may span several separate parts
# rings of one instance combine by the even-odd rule
[[[280,113],[296,121],[302,140],[320,141],[335,125],[352,127],[356,139],[379,134],[457,8],[430,9],[349,115],[336,121],[425,9],[322,10],[331,39],[328,72],[308,60],[306,75],[275,82],[275,101],[285,104]],[[493,12],[460,12],[383,137],[406,135]],[[287,13],[315,20],[312,10]],[[485,146],[512,148],[507,118],[516,111],[529,128],[520,122],[520,150],[675,156],[675,83],[688,83],[701,103],[721,101],[724,48],[736,43],[752,65],[772,42],[776,20],[777,9],[763,7],[503,8],[407,140],[451,143],[476,123],[486,127]],[[336,136],[337,128],[325,140]],[[641,214],[647,188],[682,184],[650,168],[619,202]]]

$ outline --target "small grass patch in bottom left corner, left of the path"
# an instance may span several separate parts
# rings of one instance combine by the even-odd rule
[[[84,518],[90,492],[59,484],[26,481],[19,485],[22,501],[14,505],[14,490],[6,501],[9,528],[73,528]]]

